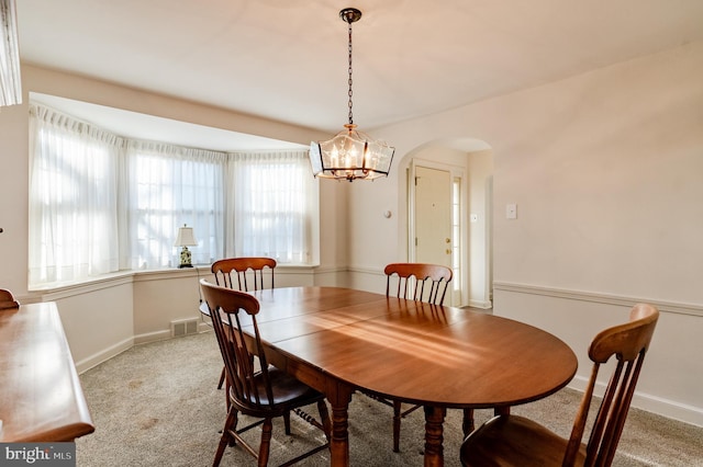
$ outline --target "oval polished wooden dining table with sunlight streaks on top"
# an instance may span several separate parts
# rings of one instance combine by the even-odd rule
[[[348,406],[357,389],[425,408],[425,466],[442,466],[447,408],[510,407],[566,386],[571,349],[490,314],[342,287],[253,292],[269,363],[325,394],[331,464],[349,465]]]

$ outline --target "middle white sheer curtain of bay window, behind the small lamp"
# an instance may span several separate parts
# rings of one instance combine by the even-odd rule
[[[160,143],[130,141],[130,269],[178,265],[178,227],[193,227],[193,264],[222,258],[226,155]]]

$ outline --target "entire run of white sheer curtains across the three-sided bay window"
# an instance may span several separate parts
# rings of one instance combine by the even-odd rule
[[[306,151],[129,140],[34,102],[30,115],[31,286],[175,267],[183,224],[198,240],[193,264],[315,261],[317,183]]]

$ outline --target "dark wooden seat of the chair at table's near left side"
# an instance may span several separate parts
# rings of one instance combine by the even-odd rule
[[[266,385],[264,383],[264,375],[258,373],[256,375],[256,387],[258,389],[259,400],[268,400],[266,396]],[[291,410],[292,407],[302,407],[309,403],[316,402],[324,398],[322,392],[312,389],[310,386],[299,381],[286,372],[278,369],[275,366],[268,367],[268,376],[271,381],[271,391],[274,394],[274,407],[266,409],[267,413],[280,412]],[[230,390],[230,397],[232,402],[236,406],[239,412],[248,415],[260,415],[260,410],[256,409],[255,396],[250,395],[249,400],[236,400],[234,391]]]

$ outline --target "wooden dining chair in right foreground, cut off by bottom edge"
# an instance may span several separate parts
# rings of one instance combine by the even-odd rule
[[[591,377],[566,440],[524,417],[498,415],[469,434],[461,444],[464,466],[610,466],[627,418],[635,385],[655,331],[659,311],[639,304],[629,321],[601,331],[589,348]],[[610,383],[583,444],[587,419],[599,368],[616,357]]]

